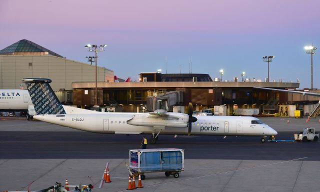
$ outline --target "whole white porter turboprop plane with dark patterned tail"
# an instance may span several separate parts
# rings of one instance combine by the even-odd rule
[[[62,126],[100,133],[152,134],[155,143],[158,134],[246,135],[266,136],[277,132],[261,120],[251,116],[192,116],[156,110],[148,113],[98,112],[65,107],[51,89],[50,79],[23,78],[37,115],[33,118]],[[70,108],[75,108],[74,110]]]

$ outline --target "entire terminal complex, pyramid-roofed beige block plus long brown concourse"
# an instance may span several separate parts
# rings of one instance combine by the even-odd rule
[[[0,89],[20,88],[24,77],[50,78],[51,87],[64,104],[92,108],[95,91],[95,65],[67,59],[32,41],[22,39],[0,50]],[[138,82],[114,82],[114,72],[97,66],[97,104],[115,111],[146,112],[155,109],[185,112],[189,102],[193,110],[225,106],[225,114],[234,109],[255,108],[259,113],[274,113],[279,104],[308,105],[319,98],[294,93],[253,88],[295,89],[298,82],[261,80],[220,81],[209,74],[141,72]],[[317,90],[310,90],[317,91]],[[306,111],[305,111],[306,112]]]

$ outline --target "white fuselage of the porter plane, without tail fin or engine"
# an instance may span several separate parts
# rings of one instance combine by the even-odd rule
[[[83,109],[84,110],[84,109]],[[147,126],[128,124],[129,120],[137,115],[148,113],[124,113],[124,112],[95,112],[94,114],[40,114],[33,118],[68,126],[80,130],[100,133],[125,133],[139,134],[152,133],[161,130],[161,134],[187,134],[188,127],[170,126],[169,124],[181,124],[183,118],[165,118],[167,126],[151,125],[150,120]],[[181,115],[182,113],[176,113]],[[184,114],[185,115],[185,114]],[[192,122],[191,134],[203,135],[276,135],[277,132],[264,123],[252,123],[259,120],[251,116],[196,116],[197,121]],[[180,122],[179,122],[180,121]],[[158,123],[158,121],[155,121]]]

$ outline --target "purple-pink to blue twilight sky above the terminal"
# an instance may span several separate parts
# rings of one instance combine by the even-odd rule
[[[275,55],[270,80],[310,87],[310,55],[320,46],[319,0],[0,0],[0,49],[28,39],[86,62],[87,43],[107,44],[98,65],[120,78],[139,72],[209,73],[264,79],[264,55]],[[320,50],[315,50],[319,53]],[[313,88],[320,88],[313,55]]]

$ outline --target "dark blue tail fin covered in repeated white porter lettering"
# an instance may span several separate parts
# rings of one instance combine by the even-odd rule
[[[29,91],[36,114],[65,114],[48,78],[23,78]]]

